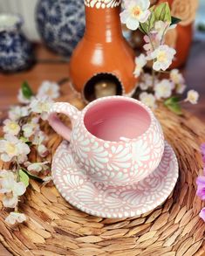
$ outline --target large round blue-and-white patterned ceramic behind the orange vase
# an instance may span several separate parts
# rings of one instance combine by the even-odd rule
[[[85,31],[84,1],[39,0],[36,21],[45,45],[70,58]]]

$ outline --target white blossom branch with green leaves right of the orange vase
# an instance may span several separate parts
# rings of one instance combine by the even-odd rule
[[[186,99],[181,94],[186,89],[185,80],[179,70],[167,69],[173,63],[176,51],[165,45],[167,31],[175,28],[181,22],[177,17],[171,16],[168,3],[161,3],[150,8],[148,0],[125,0],[125,10],[120,14],[121,22],[131,30],[140,29],[145,36],[145,53],[135,59],[133,75],[140,80],[139,98],[148,107],[157,107],[157,101],[175,114],[181,114],[181,103],[196,104],[199,94],[190,90]],[[152,63],[152,74],[144,72],[144,67]],[[161,79],[161,73],[169,75],[168,79]]]

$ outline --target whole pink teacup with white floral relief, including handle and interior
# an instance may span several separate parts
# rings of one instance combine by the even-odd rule
[[[72,131],[56,113],[71,118]],[[137,183],[161,162],[161,125],[138,100],[105,97],[92,101],[82,112],[69,103],[54,103],[49,122],[70,142],[77,166],[94,182],[113,186]]]

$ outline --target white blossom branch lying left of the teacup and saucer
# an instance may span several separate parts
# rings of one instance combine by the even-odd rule
[[[3,194],[3,206],[14,209],[5,219],[11,225],[26,220],[24,213],[18,212],[18,203],[30,179],[43,183],[51,180],[49,162],[30,163],[28,156],[31,148],[36,149],[41,158],[49,154],[47,135],[41,130],[39,122],[47,119],[53,99],[58,96],[59,86],[56,83],[44,81],[34,95],[28,83],[24,82],[18,93],[21,106],[10,107],[9,117],[3,121],[0,159],[10,162],[13,168],[0,171],[0,193]]]

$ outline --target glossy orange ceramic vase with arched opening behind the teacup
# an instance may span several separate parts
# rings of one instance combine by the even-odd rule
[[[135,90],[134,52],[122,36],[120,2],[85,0],[85,35],[70,62],[72,85],[85,101],[94,100],[98,80],[115,81],[116,94],[132,95]]]

